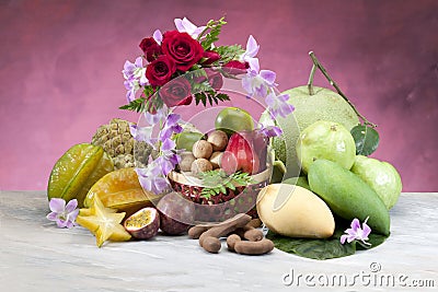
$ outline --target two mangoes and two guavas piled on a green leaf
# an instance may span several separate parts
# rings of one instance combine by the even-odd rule
[[[328,120],[319,120],[304,128],[296,151],[302,166],[301,176],[272,184],[257,197],[258,215],[278,248],[285,247],[280,244],[285,241],[281,236],[336,238],[334,244],[341,246],[343,235],[335,231],[342,232],[341,226],[351,220],[368,224],[372,236],[389,236],[389,209],[395,205],[402,190],[400,175],[391,164],[357,155],[350,131]],[[353,240],[365,244],[369,237]],[[344,255],[332,254],[326,247],[324,255],[297,252],[300,244],[304,243],[299,243],[292,250],[286,249],[319,259]]]

